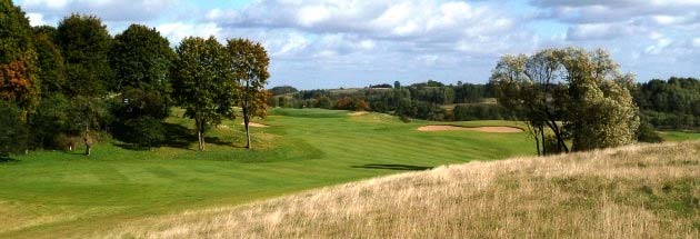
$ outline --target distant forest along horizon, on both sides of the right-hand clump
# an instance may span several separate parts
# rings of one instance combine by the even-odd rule
[[[631,89],[643,121],[658,129],[700,129],[700,79],[676,78],[637,83]],[[361,89],[270,89],[271,107],[323,108],[391,113],[409,119],[438,121],[514,120],[498,104],[491,83],[444,84],[427,82],[401,86],[382,83]]]

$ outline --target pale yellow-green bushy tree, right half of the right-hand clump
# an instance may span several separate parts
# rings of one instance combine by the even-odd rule
[[[568,81],[566,106],[572,149],[583,151],[618,147],[634,141],[640,125],[639,110],[628,89],[633,76],[619,73],[608,52],[579,48],[557,51]]]

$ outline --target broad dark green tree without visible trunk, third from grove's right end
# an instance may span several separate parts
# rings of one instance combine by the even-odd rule
[[[114,37],[109,61],[119,92],[116,137],[140,147],[162,139],[160,121],[169,116],[173,59],[170,43],[153,28],[132,24]]]

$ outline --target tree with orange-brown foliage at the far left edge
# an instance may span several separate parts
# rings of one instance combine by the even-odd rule
[[[0,100],[17,104],[26,114],[39,102],[36,51],[24,12],[0,0]]]

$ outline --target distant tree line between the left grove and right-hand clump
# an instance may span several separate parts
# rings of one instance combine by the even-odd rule
[[[404,120],[512,119],[506,108],[490,101],[493,84],[443,84],[438,81],[402,86],[374,84],[362,89],[302,90],[289,86],[270,89],[269,104],[281,108],[371,110],[392,113]]]

